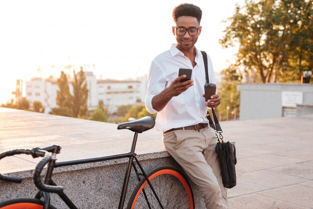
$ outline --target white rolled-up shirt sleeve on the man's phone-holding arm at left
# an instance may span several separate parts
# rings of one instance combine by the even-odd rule
[[[152,98],[164,90],[166,85],[166,80],[163,71],[153,60],[150,65],[149,75],[148,75],[148,86],[145,95],[145,108],[151,114],[157,113],[159,111],[152,107]]]

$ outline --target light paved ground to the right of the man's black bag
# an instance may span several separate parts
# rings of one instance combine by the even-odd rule
[[[313,208],[313,115],[221,126],[237,151],[229,208]]]

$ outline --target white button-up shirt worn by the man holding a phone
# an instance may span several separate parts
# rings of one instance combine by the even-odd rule
[[[150,66],[145,106],[150,113],[157,113],[154,127],[156,130],[166,131],[171,128],[207,122],[205,118],[207,107],[205,98],[202,96],[206,81],[201,51],[196,49],[196,65],[192,67],[189,58],[175,46],[176,44],[173,44],[169,50],[157,55]],[[212,62],[208,55],[207,66],[209,82],[215,83]],[[159,94],[178,77],[179,68],[192,69],[193,85],[178,96],[173,96],[162,110],[153,109],[153,96]]]

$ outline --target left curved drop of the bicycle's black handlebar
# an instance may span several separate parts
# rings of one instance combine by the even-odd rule
[[[32,157],[44,156],[45,152],[39,151],[37,148],[33,149],[13,149],[9,151],[5,151],[0,154],[0,159],[6,156],[13,156],[15,154],[30,154]],[[10,181],[14,183],[21,183],[22,178],[13,175],[4,175],[0,173],[0,180]]]

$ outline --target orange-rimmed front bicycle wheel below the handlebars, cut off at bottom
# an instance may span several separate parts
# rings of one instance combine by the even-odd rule
[[[18,198],[0,202],[0,209],[42,209],[43,201],[33,198]],[[56,209],[50,204],[49,209]]]

